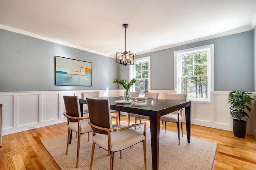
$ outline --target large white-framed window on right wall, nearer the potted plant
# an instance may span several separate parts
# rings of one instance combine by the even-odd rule
[[[188,99],[210,100],[214,90],[214,45],[174,52],[177,93]]]

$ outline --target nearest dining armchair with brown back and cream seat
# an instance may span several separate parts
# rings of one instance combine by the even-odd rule
[[[113,170],[114,153],[120,151],[120,158],[122,158],[121,150],[140,142],[143,143],[144,166],[146,170],[146,123],[113,128],[109,101],[95,98],[86,98],[86,101],[90,116],[88,123],[92,126],[93,130],[90,170],[92,170],[95,145],[108,151],[108,155],[110,155],[110,170]],[[130,129],[138,125],[144,125],[143,134]]]

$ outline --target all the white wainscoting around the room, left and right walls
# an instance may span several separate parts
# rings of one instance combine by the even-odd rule
[[[3,104],[3,135],[29,130],[32,125],[38,128],[66,122],[66,117],[62,115],[65,111],[63,96],[77,95],[81,98],[81,93],[84,91],[0,92],[0,103]],[[124,89],[97,91],[100,91],[101,96],[124,94]],[[176,93],[174,90],[150,90],[150,92],[158,92],[159,99],[164,98],[165,93]],[[228,103],[229,93],[211,92],[211,101],[192,100],[192,124],[233,131]],[[252,93],[251,97],[255,99],[256,93]],[[256,103],[253,101],[250,107],[252,108],[249,113],[250,120],[245,119],[246,133],[255,136]]]

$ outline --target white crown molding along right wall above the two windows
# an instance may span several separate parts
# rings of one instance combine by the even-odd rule
[[[255,27],[255,25],[254,25],[254,27]],[[176,44],[172,44],[172,45],[168,45],[168,46],[164,46],[164,47],[160,47],[160,48],[156,48],[156,49],[151,49],[151,50],[148,50],[148,51],[142,51],[142,52],[136,53],[136,55],[152,53],[152,52],[155,52],[155,51],[160,51],[160,50],[164,50],[164,49],[170,49],[170,48],[173,48],[173,47],[178,47],[178,46],[192,44],[192,43],[198,43],[200,41],[206,41],[206,40],[209,40],[209,39],[224,37],[224,36],[232,35],[232,34],[236,34],[236,33],[242,33],[242,32],[245,32],[245,31],[253,30],[254,27],[246,27],[246,28],[242,28],[242,29],[236,29],[236,30],[225,32],[225,33],[219,33],[219,34],[210,35],[210,36],[207,36],[207,37],[202,37],[202,38],[194,39],[194,40],[191,40],[191,41],[185,41],[185,42],[182,42],[182,43],[176,43]]]

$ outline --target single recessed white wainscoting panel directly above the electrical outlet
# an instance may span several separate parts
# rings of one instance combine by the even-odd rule
[[[39,94],[18,96],[18,126],[39,122]],[[14,113],[15,115],[15,113]]]

